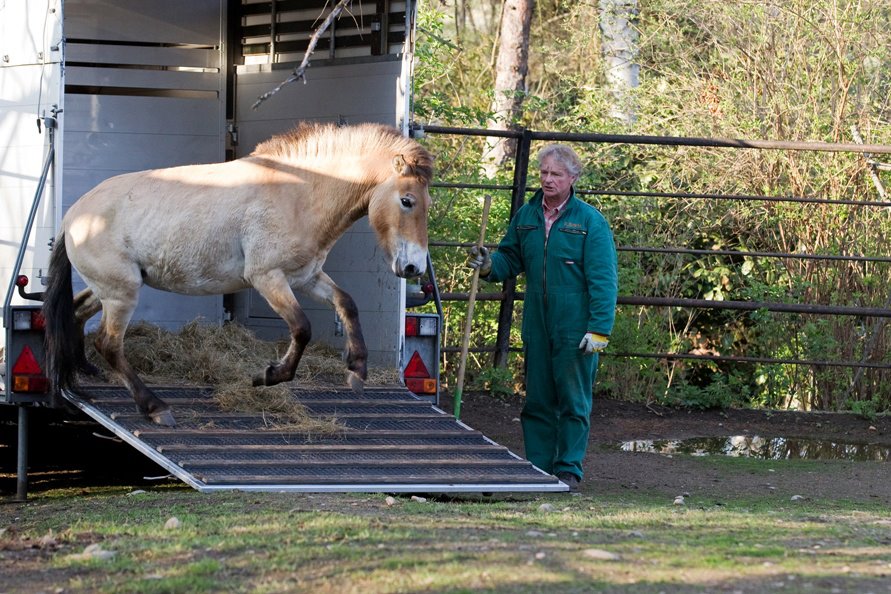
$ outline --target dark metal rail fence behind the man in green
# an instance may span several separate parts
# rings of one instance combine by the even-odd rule
[[[873,182],[876,184],[878,194],[882,200],[834,200],[820,197],[801,196],[764,196],[741,194],[697,194],[697,193],[667,193],[667,192],[629,192],[615,190],[583,189],[576,188],[576,193],[581,195],[602,196],[645,196],[656,198],[683,198],[701,200],[733,200],[733,201],[760,201],[760,202],[787,202],[805,204],[826,205],[852,205],[858,207],[887,209],[891,202],[885,201],[885,193],[876,176],[877,170],[888,169],[888,166],[873,160],[873,155],[891,154],[891,146],[871,145],[862,143],[823,143],[823,142],[792,142],[792,141],[767,141],[767,140],[739,140],[719,138],[693,138],[693,137],[669,137],[669,136],[635,136],[617,134],[570,134],[555,132],[535,132],[531,130],[484,130],[469,128],[453,128],[444,126],[416,126],[413,129],[415,137],[425,135],[454,135],[473,137],[498,137],[511,138],[516,141],[516,157],[514,164],[513,183],[511,185],[497,184],[462,184],[462,183],[434,183],[437,188],[476,189],[492,192],[510,192],[511,216],[522,206],[527,192],[534,188],[527,187],[527,171],[530,163],[530,150],[533,141],[574,142],[574,143],[601,143],[613,145],[662,145],[671,147],[709,147],[728,149],[760,149],[780,151],[820,151],[820,152],[845,152],[863,155],[871,169]],[[856,135],[855,135],[856,137]],[[859,137],[857,137],[859,138]],[[431,240],[432,247],[469,247],[471,244],[447,240]],[[735,251],[721,249],[689,249],[683,247],[652,247],[652,246],[617,246],[619,252],[653,253],[665,255],[691,255],[691,256],[746,256],[758,258],[784,258],[789,260],[816,260],[816,261],[840,261],[858,263],[882,263],[891,264],[891,257],[881,255],[849,255],[849,254],[809,254],[787,253],[773,251]],[[891,288],[886,287],[891,291]],[[462,301],[468,299],[467,293],[446,292],[440,295],[442,301]],[[504,365],[510,350],[516,350],[509,344],[509,331],[513,316],[514,302],[522,299],[522,294],[516,290],[516,281],[510,280],[503,284],[499,292],[483,292],[477,294],[477,300],[500,301],[498,316],[498,333],[494,345],[484,347],[472,347],[473,352],[494,352],[494,364]],[[693,309],[713,310],[740,310],[793,313],[793,314],[825,314],[830,316],[858,316],[875,320],[873,333],[881,331],[886,318],[891,317],[891,293],[883,307],[860,307],[856,305],[826,305],[817,303],[781,303],[767,301],[719,301],[707,299],[671,298],[647,295],[624,294],[618,298],[620,305],[633,305],[642,307],[679,307]],[[444,353],[457,352],[459,347],[443,345]],[[869,349],[867,349],[868,351]],[[681,352],[610,352],[607,356],[614,357],[643,357],[657,359],[685,359],[685,360],[714,360],[748,363],[778,363],[815,365],[826,367],[850,367],[863,369],[880,368],[889,369],[891,363],[884,361],[871,361],[867,352],[860,360],[807,360],[796,358],[770,358],[747,357],[719,354],[694,354]],[[858,372],[858,373],[859,373]]]

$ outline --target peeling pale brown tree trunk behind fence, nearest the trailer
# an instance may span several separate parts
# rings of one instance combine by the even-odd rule
[[[529,28],[535,0],[505,0],[501,12],[500,42],[495,62],[495,96],[488,127],[509,130],[520,116],[529,72]],[[493,177],[498,167],[516,152],[509,138],[490,138],[483,153],[486,175]]]

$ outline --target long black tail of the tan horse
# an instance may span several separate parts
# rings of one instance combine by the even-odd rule
[[[63,388],[77,386],[78,347],[83,342],[83,336],[78,336],[80,327],[74,320],[74,287],[64,233],[53,242],[48,274],[49,284],[43,295],[44,343],[47,375],[58,393]]]

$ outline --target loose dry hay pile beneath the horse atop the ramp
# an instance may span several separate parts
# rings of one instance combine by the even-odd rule
[[[87,340],[87,358],[108,371],[105,360]],[[260,412],[270,429],[330,434],[342,430],[336,419],[313,418],[291,394],[292,384],[254,387],[254,374],[277,361],[287,341],[259,340],[239,324],[210,326],[191,322],[179,332],[147,323],[133,324],[124,340],[130,364],[142,379],[154,385],[212,386],[220,408],[230,412]],[[340,353],[324,345],[310,344],[297,368],[293,384],[343,386],[346,365]],[[367,385],[399,383],[392,370],[369,370]],[[174,411],[175,414],[175,411]]]

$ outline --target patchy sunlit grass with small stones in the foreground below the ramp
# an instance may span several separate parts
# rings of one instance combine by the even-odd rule
[[[0,513],[0,591],[804,593],[891,584],[891,511],[838,501],[680,507],[639,495],[526,495],[388,505],[379,494],[90,488],[48,491]],[[174,516],[181,526],[165,528]],[[53,544],[40,545],[47,535]],[[93,543],[115,556],[72,556]]]

